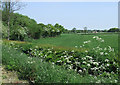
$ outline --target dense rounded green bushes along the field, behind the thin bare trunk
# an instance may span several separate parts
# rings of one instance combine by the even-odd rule
[[[7,28],[6,12],[2,11],[2,21]],[[64,32],[64,27],[56,23],[54,26],[51,24],[44,25],[37,24],[34,19],[18,13],[12,13],[10,19],[10,39],[11,40],[25,40],[25,38],[39,39],[40,37],[55,37]],[[6,35],[6,33],[3,33]],[[5,37],[3,37],[5,38]]]

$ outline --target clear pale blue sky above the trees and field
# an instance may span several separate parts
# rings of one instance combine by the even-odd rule
[[[117,2],[26,2],[18,13],[37,23],[59,23],[66,29],[109,29],[118,27]]]

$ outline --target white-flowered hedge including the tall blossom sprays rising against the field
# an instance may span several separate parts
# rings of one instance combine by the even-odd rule
[[[98,44],[93,49],[86,49],[84,51],[56,50],[54,47],[32,47],[30,45],[28,47],[15,44],[12,44],[12,47],[15,46],[16,49],[21,48],[24,53],[32,58],[35,57],[38,60],[56,64],[68,70],[74,70],[82,76],[115,78],[119,72],[118,56],[111,46],[104,48],[100,46],[105,42],[102,38],[94,36],[92,40],[84,41],[83,45],[77,46],[77,48],[89,47],[89,44],[93,42]],[[113,79],[112,82],[115,80]],[[103,80],[99,80],[99,82],[103,82]]]

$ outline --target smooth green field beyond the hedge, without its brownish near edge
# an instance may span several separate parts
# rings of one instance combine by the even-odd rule
[[[53,46],[62,46],[62,47],[75,47],[83,44],[84,41],[93,40],[93,36],[99,36],[105,40],[101,44],[102,47],[111,46],[114,49],[118,50],[118,34],[98,34],[98,35],[80,35],[80,34],[62,34],[58,37],[52,38],[41,38],[39,40],[32,41],[35,44],[49,44]],[[92,48],[98,44],[97,42],[90,43],[89,47]]]

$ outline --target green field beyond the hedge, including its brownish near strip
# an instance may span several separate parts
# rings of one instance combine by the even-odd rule
[[[89,34],[89,35],[81,35],[81,34],[62,34],[57,37],[49,37],[49,38],[41,38],[38,40],[31,40],[30,42],[20,42],[20,41],[8,41],[3,40],[3,42],[14,42],[18,44],[31,44],[33,46],[43,46],[43,47],[55,47],[60,49],[75,49],[75,46],[80,46],[84,41],[92,40],[93,36],[99,36],[105,40],[101,47],[111,46],[116,51],[118,50],[118,34],[115,33],[105,33],[105,34]],[[89,49],[96,46],[97,42],[92,42],[89,45]]]

